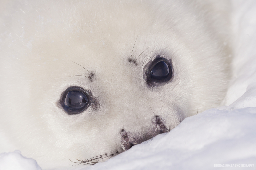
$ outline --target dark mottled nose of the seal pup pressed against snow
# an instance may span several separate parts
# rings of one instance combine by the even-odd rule
[[[148,139],[151,139],[152,137],[161,134],[161,133],[165,133],[165,132],[169,132],[170,129],[168,129],[166,127],[166,125],[164,125],[162,119],[160,116],[155,115],[152,118],[152,127],[150,127],[148,129],[148,131],[143,134],[134,134],[131,133],[125,129],[121,130],[121,147],[124,151],[130,149],[132,146],[136,145],[136,144],[140,144],[141,142],[144,142]]]

